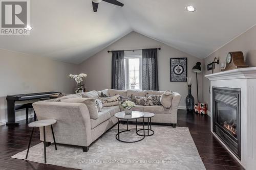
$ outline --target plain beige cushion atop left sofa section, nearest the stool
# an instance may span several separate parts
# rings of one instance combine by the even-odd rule
[[[96,101],[91,98],[74,98],[74,99],[63,99],[60,102],[65,103],[83,103],[87,106],[89,110],[90,117],[93,119],[98,118],[98,109],[96,106]]]

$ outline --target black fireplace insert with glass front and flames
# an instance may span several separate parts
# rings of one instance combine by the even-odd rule
[[[241,160],[240,89],[212,87],[212,130]]]

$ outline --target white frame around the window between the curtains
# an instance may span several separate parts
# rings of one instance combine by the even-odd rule
[[[140,90],[142,89],[142,55],[126,55],[125,60],[125,89],[129,89],[129,59],[140,59]]]

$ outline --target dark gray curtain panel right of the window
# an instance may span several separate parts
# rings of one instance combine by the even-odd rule
[[[142,90],[158,90],[157,48],[142,50]]]

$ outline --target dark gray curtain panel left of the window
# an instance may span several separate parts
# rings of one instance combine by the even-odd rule
[[[125,88],[124,51],[112,51],[111,88],[118,90]]]

